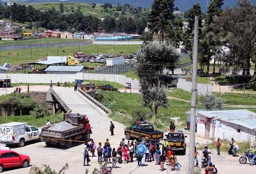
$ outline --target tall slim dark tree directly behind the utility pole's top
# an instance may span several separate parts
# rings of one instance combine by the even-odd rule
[[[201,37],[201,29],[202,29],[202,11],[199,3],[193,5],[191,9],[188,10],[188,28],[185,31],[185,38],[183,44],[187,51],[192,52],[192,44],[193,44],[193,30],[195,23],[195,16],[199,17],[199,38]],[[191,55],[192,57],[192,55]]]

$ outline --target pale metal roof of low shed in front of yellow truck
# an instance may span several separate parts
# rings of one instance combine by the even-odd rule
[[[55,74],[76,74],[77,72],[86,72],[86,68],[84,66],[49,66],[44,71]]]

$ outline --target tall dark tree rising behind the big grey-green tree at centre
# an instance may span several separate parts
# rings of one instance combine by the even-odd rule
[[[165,39],[166,26],[173,22],[175,16],[174,0],[154,0],[148,15],[149,29],[159,33],[159,43]]]

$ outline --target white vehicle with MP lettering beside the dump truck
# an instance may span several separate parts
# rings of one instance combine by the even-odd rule
[[[11,122],[0,124],[0,142],[6,145],[16,144],[19,147],[25,145],[25,142],[29,140],[40,138],[41,130],[38,130],[35,126],[30,126],[28,123]]]

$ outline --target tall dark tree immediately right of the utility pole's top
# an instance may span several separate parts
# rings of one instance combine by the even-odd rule
[[[218,37],[218,30],[212,28],[213,19],[218,17],[221,12],[223,0],[212,0],[208,5],[206,15],[205,28],[202,30],[202,42],[199,43],[199,58],[201,62],[201,69],[203,64],[207,64],[207,71],[209,73],[209,64],[214,57],[213,73],[215,73],[215,61],[218,48],[221,46],[220,38]]]

